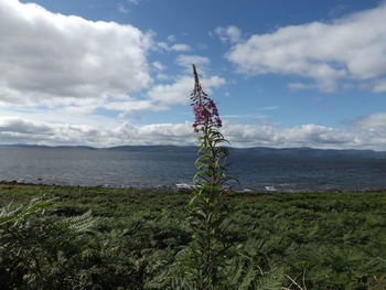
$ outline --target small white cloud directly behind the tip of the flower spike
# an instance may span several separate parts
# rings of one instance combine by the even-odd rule
[[[203,78],[201,82],[204,90],[207,90],[207,93],[211,93],[211,88],[225,84],[225,79],[219,76]],[[193,87],[193,78],[191,76],[182,76],[173,84],[156,85],[149,90],[148,97],[153,101],[165,105],[187,104]]]

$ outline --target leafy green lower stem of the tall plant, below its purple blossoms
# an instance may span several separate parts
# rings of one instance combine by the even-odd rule
[[[228,152],[217,147],[224,138],[216,127],[206,126],[203,130],[195,162],[196,186],[187,206],[193,243],[184,256],[183,277],[197,290],[224,289],[218,287],[223,284],[223,268],[233,250],[226,238],[229,211],[225,200],[228,191],[224,186],[229,178],[224,162]]]

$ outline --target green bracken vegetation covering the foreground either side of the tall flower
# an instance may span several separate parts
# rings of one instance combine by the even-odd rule
[[[12,211],[42,195],[46,205]],[[1,289],[164,289],[160,277],[192,241],[185,219],[191,197],[178,191],[0,185],[0,204],[12,201],[0,213]],[[246,245],[262,271],[280,265],[304,289],[386,289],[386,193],[227,198],[228,240]],[[288,279],[288,288],[299,289],[290,284]]]

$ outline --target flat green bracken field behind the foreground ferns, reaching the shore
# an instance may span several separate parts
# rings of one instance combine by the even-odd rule
[[[42,195],[56,198],[53,218],[90,210],[96,230],[143,261],[147,279],[191,241],[189,192],[0,185],[2,205]],[[280,265],[307,289],[386,289],[385,192],[234,193],[229,204],[229,238],[262,268]]]

